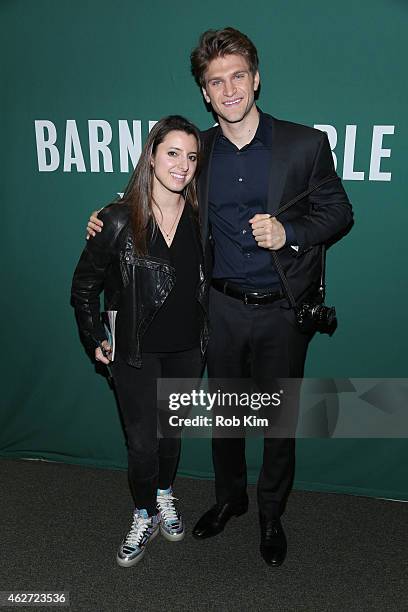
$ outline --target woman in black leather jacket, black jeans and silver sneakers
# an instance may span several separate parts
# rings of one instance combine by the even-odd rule
[[[117,554],[123,567],[143,557],[159,529],[168,540],[184,537],[172,488],[180,437],[167,435],[156,384],[161,377],[199,378],[207,344],[199,142],[183,117],[153,127],[123,199],[101,211],[104,231],[88,241],[72,283],[84,344],[110,366],[128,440],[135,511]],[[102,290],[112,337],[100,318]]]

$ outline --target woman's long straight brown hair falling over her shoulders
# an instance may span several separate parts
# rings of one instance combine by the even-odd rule
[[[141,256],[147,254],[149,222],[151,222],[152,233],[157,231],[157,223],[153,214],[153,167],[151,159],[159,144],[163,142],[169,132],[173,131],[185,132],[196,138],[199,162],[200,132],[193,123],[179,115],[170,115],[153,126],[122,199],[123,202],[130,205],[135,250]],[[197,172],[198,164],[195,175],[185,188],[183,196],[186,203],[192,206],[198,214]]]

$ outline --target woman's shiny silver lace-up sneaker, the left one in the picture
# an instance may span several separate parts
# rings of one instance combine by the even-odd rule
[[[160,516],[149,516],[146,510],[135,509],[132,526],[119,546],[116,561],[121,567],[130,567],[140,561],[146,545],[159,533]]]

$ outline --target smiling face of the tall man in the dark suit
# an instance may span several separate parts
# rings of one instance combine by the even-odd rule
[[[225,55],[212,60],[204,75],[202,88],[206,102],[220,119],[238,123],[254,106],[259,73],[253,75],[242,55]]]

